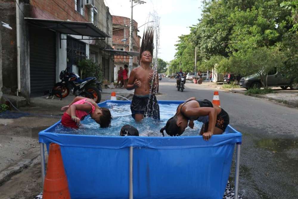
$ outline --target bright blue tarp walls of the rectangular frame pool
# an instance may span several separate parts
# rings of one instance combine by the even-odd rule
[[[127,101],[112,101],[128,104]],[[159,101],[180,104],[181,101]],[[106,102],[99,104],[101,107]],[[161,110],[162,111],[162,110]],[[134,137],[39,133],[39,142],[58,143],[72,198],[128,198],[129,146],[134,146],[134,198],[222,198],[234,146],[241,133]]]

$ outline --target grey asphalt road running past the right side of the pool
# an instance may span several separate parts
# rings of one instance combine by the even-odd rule
[[[159,82],[159,100],[213,98],[215,88],[174,79]],[[219,91],[230,125],[243,135],[239,190],[243,198],[298,198],[298,109],[242,94]],[[230,178],[233,181],[234,169]]]

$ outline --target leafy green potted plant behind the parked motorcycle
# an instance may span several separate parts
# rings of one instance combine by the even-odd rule
[[[77,65],[81,78],[96,77],[98,81],[103,78],[100,65],[97,65],[93,59],[81,59]]]

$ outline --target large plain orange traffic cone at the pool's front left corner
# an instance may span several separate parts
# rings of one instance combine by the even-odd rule
[[[67,178],[64,171],[60,146],[51,143],[49,158],[44,178],[44,199],[65,198],[70,199]]]

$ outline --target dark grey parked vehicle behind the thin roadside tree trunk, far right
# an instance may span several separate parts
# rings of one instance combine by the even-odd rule
[[[263,82],[266,84],[266,74],[263,76]],[[247,77],[243,77],[240,79],[240,87],[249,89],[249,88],[261,88],[262,84],[260,81],[260,77],[258,74],[249,75]],[[287,89],[288,87],[291,90],[298,90],[298,82],[293,81],[289,78],[286,78],[282,72],[278,72],[277,70],[272,70],[268,72],[267,79],[268,87],[281,87],[282,89]]]

